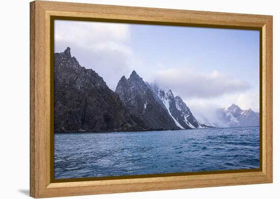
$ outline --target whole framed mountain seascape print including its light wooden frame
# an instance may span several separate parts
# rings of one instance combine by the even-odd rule
[[[272,16],[30,6],[31,196],[272,183]]]

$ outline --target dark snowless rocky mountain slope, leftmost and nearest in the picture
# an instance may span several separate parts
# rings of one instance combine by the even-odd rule
[[[70,48],[54,54],[54,131],[147,130],[95,71],[81,67]]]

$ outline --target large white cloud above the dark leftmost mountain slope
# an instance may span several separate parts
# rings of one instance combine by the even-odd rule
[[[80,65],[95,70],[109,88],[131,72],[135,56],[128,24],[56,20],[54,25],[54,51],[70,47]]]

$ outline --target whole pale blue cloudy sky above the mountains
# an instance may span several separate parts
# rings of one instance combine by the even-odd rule
[[[259,112],[259,45],[253,30],[54,22],[54,51],[70,47],[111,90],[135,70],[179,95],[194,115],[233,103]]]

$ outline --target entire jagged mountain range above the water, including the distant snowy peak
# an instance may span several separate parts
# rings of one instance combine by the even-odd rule
[[[111,91],[92,69],[81,67],[70,48],[54,53],[54,131],[152,131],[208,128],[171,90],[148,83],[136,71]],[[235,105],[236,106],[236,105]],[[238,107],[238,106],[237,106]],[[259,115],[233,105],[217,115],[229,126],[257,124]],[[240,109],[240,110],[239,110]]]

